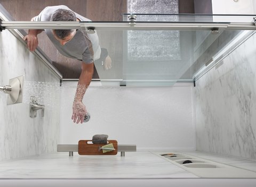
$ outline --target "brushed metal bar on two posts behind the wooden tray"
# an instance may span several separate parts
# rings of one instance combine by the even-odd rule
[[[136,152],[136,145],[117,145],[117,151],[121,152],[121,157],[125,156],[125,152]],[[78,145],[58,145],[58,152],[69,152],[69,156],[73,156],[73,152],[78,152]]]

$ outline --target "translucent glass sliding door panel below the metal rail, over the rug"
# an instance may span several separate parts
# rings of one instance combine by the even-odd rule
[[[95,63],[102,82],[126,86],[170,86],[182,78],[218,38],[211,31],[98,30],[100,45],[108,50],[111,69]],[[202,37],[204,36],[204,37]],[[209,57],[209,58],[207,58]],[[204,57],[204,62],[211,60]],[[184,79],[191,79],[192,74]]]

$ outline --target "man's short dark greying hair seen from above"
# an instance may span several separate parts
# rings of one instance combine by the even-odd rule
[[[51,21],[76,21],[76,14],[73,11],[59,8],[52,16]],[[55,35],[60,39],[65,39],[75,29],[53,29]]]

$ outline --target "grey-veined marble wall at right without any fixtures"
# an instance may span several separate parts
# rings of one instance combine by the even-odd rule
[[[196,81],[197,150],[256,159],[256,35]]]

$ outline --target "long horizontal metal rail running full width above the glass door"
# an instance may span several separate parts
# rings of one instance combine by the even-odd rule
[[[132,24],[131,24],[132,23]],[[256,30],[250,23],[2,21],[4,29]]]

